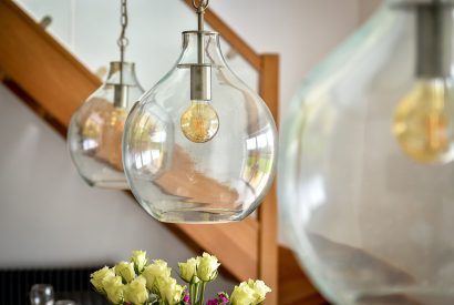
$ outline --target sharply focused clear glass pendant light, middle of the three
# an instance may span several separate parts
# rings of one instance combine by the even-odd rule
[[[176,65],[133,108],[124,167],[141,205],[163,222],[229,222],[249,215],[275,174],[276,125],[265,102],[227,67],[219,35],[183,32]]]

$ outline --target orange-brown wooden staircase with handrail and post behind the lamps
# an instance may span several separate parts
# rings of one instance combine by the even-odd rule
[[[260,94],[277,120],[278,55],[257,54],[209,10],[206,21],[257,69]],[[101,81],[11,0],[0,0],[0,81],[65,134],[72,113]],[[166,226],[196,251],[217,255],[225,272],[235,278],[267,282],[274,291],[267,304],[327,304],[306,278],[293,254],[277,244],[275,186],[257,218],[231,224]],[[223,241],[221,248],[218,241]]]

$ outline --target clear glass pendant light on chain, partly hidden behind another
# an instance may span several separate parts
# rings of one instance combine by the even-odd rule
[[[122,162],[124,122],[144,92],[134,63],[124,61],[126,0],[121,8],[121,59],[111,62],[106,81],[73,114],[68,131],[71,157],[80,175],[92,186],[109,189],[128,189]]]

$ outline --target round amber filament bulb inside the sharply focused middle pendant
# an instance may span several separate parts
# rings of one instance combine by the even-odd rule
[[[205,143],[216,135],[219,118],[207,101],[192,101],[180,120],[183,134],[192,142]]]

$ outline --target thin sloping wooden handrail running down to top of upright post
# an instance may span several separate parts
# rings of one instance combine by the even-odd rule
[[[192,0],[183,0],[193,8]],[[209,8],[205,12],[206,22],[211,26],[234,49],[241,54],[257,71],[261,69],[261,58],[246,43],[236,32],[234,32],[216,13]]]

